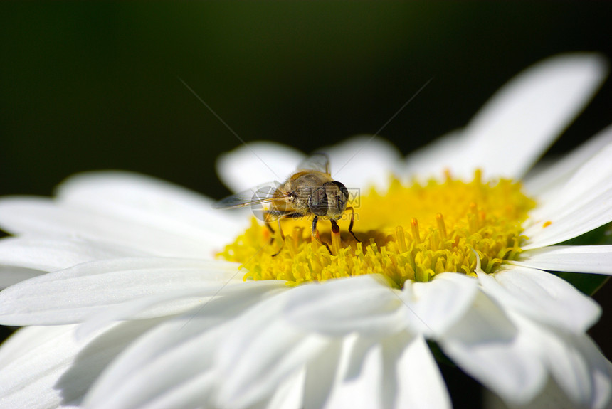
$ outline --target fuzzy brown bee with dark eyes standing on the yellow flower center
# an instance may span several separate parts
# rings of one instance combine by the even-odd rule
[[[253,193],[254,192],[254,193]],[[334,181],[329,174],[329,158],[326,154],[312,154],[297,166],[295,171],[285,183],[271,182],[248,191],[228,196],[213,204],[213,208],[228,209],[251,206],[253,213],[264,221],[271,233],[275,233],[270,222],[278,223],[281,238],[280,250],[283,250],[285,235],[280,227],[283,218],[300,218],[312,216],[311,235],[320,245],[325,245],[329,254],[332,250],[329,245],[319,238],[317,223],[320,219],[332,223],[332,232],[339,233],[337,221],[342,218],[345,211],[351,211],[349,233],[357,242],[359,239],[353,233],[354,208],[347,207],[349,191],[344,184]],[[268,208],[263,208],[268,205]],[[257,212],[257,213],[256,213]],[[270,243],[274,238],[271,238]]]

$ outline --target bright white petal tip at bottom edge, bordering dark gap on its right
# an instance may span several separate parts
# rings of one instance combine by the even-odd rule
[[[425,339],[416,336],[397,359],[395,408],[450,408],[450,397]]]

